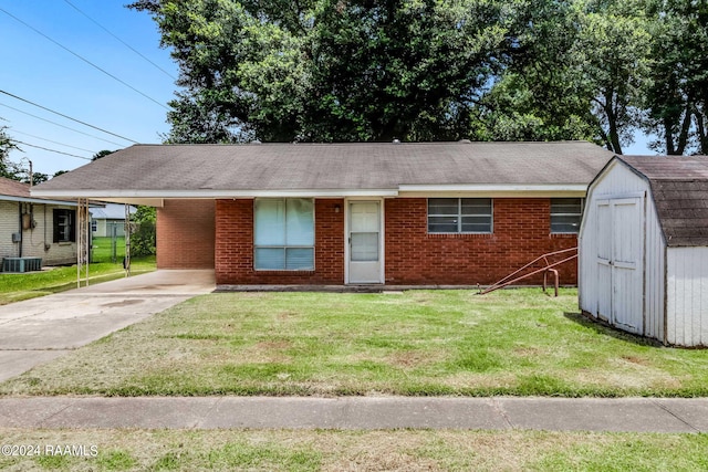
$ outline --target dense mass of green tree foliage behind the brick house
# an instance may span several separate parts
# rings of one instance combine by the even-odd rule
[[[180,66],[168,143],[706,147],[695,0],[138,0]]]

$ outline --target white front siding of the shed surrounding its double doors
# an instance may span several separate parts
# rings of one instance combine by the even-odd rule
[[[597,317],[598,306],[607,302],[611,294],[605,293],[605,289],[600,284],[597,251],[600,238],[611,237],[608,230],[598,228],[596,202],[601,199],[637,195],[646,192],[646,213],[644,216],[646,228],[646,253],[644,259],[644,283],[643,296],[632,297],[635,302],[632,310],[642,312],[643,302],[646,307],[644,313],[643,327],[639,334],[656,337],[664,340],[664,250],[662,231],[656,218],[654,202],[650,199],[649,186],[646,180],[634,174],[622,162],[613,162],[605,172],[594,182],[589,191],[583,217],[583,224],[580,232],[580,273],[579,291],[581,310]],[[642,209],[639,209],[642,211]],[[643,333],[642,333],[643,332]]]

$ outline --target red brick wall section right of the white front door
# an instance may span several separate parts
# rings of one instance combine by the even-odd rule
[[[543,253],[577,245],[575,235],[550,234],[548,198],[496,198],[492,204],[492,234],[428,234],[427,199],[386,200],[386,283],[485,285]],[[577,283],[575,261],[559,269],[562,284]]]

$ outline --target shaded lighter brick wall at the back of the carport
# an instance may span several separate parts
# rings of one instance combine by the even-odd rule
[[[165,200],[157,209],[157,268],[214,269],[214,200]]]

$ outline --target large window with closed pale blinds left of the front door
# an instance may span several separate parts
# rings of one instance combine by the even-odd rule
[[[314,269],[314,202],[302,198],[254,201],[254,268],[261,271]]]

